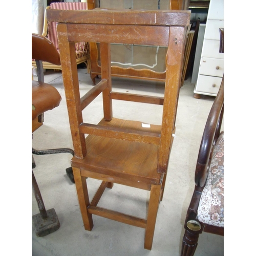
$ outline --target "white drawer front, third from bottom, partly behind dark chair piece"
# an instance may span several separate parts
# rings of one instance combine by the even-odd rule
[[[220,40],[204,39],[202,57],[224,59],[224,53],[220,53]]]

